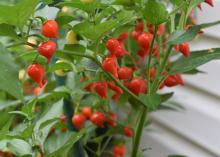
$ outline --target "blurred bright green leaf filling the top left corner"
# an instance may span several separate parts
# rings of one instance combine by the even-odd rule
[[[0,23],[14,25],[22,29],[37,4],[38,0],[20,0],[14,6],[0,5]]]

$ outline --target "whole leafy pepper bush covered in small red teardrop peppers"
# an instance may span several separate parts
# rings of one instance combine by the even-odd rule
[[[220,48],[190,51],[190,41],[220,23],[196,24],[194,11],[203,4],[213,6],[212,0],[2,1],[0,156],[147,154],[140,147],[147,117],[175,108],[165,103],[174,94],[166,88],[183,86],[182,75],[220,59]]]

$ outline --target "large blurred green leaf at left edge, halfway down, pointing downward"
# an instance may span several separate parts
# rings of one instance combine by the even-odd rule
[[[0,89],[17,99],[23,99],[22,87],[18,80],[18,67],[8,52],[0,44]]]

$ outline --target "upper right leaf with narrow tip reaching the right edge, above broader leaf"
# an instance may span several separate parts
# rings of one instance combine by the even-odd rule
[[[196,25],[188,30],[176,30],[170,34],[169,38],[167,39],[167,44],[176,45],[183,42],[192,41],[201,29],[212,27],[217,24],[220,24],[220,21]]]

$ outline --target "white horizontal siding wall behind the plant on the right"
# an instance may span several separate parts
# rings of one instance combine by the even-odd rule
[[[220,2],[203,5],[198,22],[220,20]],[[220,47],[220,26],[205,30],[191,49]],[[186,85],[171,89],[174,100],[185,107],[179,112],[159,111],[151,115],[151,132],[145,132],[142,147],[146,157],[182,154],[189,157],[220,157],[220,61],[199,68],[206,74],[184,76]]]

